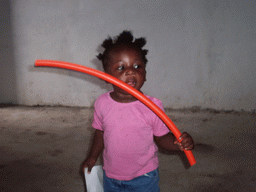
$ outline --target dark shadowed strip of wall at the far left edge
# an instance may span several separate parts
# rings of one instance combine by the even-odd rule
[[[14,44],[9,0],[0,1],[0,103],[17,103]]]

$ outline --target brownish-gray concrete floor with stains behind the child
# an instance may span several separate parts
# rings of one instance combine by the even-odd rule
[[[256,191],[255,113],[168,110],[196,143],[197,163],[161,151],[161,191]],[[0,107],[0,191],[85,191],[80,165],[90,147],[93,109]],[[99,161],[98,164],[101,162]]]

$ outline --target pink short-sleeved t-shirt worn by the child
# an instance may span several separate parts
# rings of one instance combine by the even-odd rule
[[[163,109],[159,99],[147,97]],[[153,135],[163,136],[169,129],[140,101],[119,103],[110,92],[99,96],[92,126],[104,131],[103,169],[109,178],[131,180],[158,168]]]

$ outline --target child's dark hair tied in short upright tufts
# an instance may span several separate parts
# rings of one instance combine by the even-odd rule
[[[108,39],[104,40],[101,46],[105,48],[105,51],[96,57],[102,61],[102,65],[104,70],[106,71],[107,68],[107,60],[109,58],[109,53],[117,46],[131,46],[136,49],[138,49],[141,52],[141,56],[143,58],[144,63],[146,64],[148,62],[146,55],[148,53],[148,50],[142,49],[142,47],[146,44],[146,39],[144,37],[135,39],[133,41],[134,37],[131,33],[131,31],[123,31],[119,34],[119,36],[115,38],[109,37]]]

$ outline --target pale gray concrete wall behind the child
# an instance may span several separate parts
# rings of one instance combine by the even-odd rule
[[[11,2],[15,65],[1,60],[1,71],[15,66],[11,101],[92,106],[111,86],[72,71],[34,68],[34,61],[62,60],[101,70],[95,59],[99,45],[108,35],[129,29],[148,40],[143,92],[161,99],[165,107],[256,108],[255,1]],[[7,80],[1,78],[2,92]],[[2,92],[0,102],[6,102]]]

